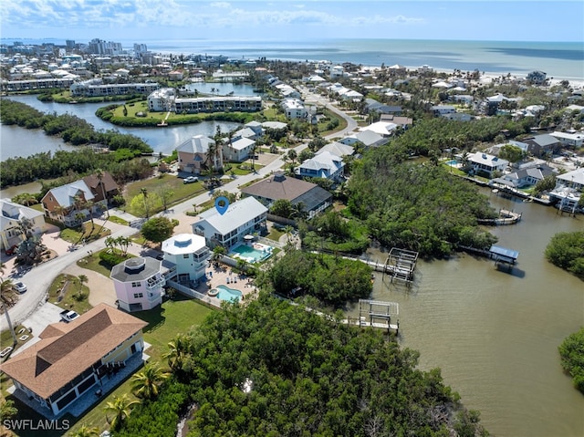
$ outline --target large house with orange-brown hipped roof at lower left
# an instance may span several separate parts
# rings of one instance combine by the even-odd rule
[[[48,325],[39,341],[17,352],[0,370],[14,381],[14,395],[47,418],[65,412],[78,416],[120,383],[120,377],[141,366],[142,328],[147,325],[100,304],[70,323]],[[76,408],[76,403],[83,405]]]

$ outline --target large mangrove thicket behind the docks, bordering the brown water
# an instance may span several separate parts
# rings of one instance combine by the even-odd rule
[[[455,245],[488,248],[495,236],[477,227],[494,218],[474,184],[439,166],[401,160],[391,147],[369,151],[349,180],[349,210],[387,247],[422,256],[449,255]]]

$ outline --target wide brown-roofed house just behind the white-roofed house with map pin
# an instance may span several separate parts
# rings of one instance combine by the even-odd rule
[[[304,205],[302,211],[308,218],[314,217],[332,204],[330,192],[316,183],[287,177],[284,172],[276,172],[263,181],[242,188],[241,192],[255,197],[268,208],[279,199],[287,200],[293,205],[301,203]]]

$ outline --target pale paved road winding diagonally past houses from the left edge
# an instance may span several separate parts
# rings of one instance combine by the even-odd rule
[[[325,137],[327,140],[332,140],[333,138],[339,138],[346,135],[349,132],[352,132],[357,128],[357,122],[349,117],[347,114],[342,112],[341,110],[335,108],[328,102],[328,99],[325,99],[321,96],[310,94],[308,95],[307,99],[309,101],[317,102],[322,106],[326,106],[327,109],[335,112],[343,119],[347,120],[347,128],[344,130],[337,131],[331,135]],[[308,143],[303,143],[294,148],[297,153],[303,151],[308,147]],[[245,176],[238,176],[232,182],[225,183],[220,189],[226,190],[227,192],[239,192],[239,187],[247,182],[254,181],[255,179],[259,180],[272,172],[276,172],[280,170],[284,166],[284,161],[281,157],[277,158],[275,161],[270,162],[265,167],[261,168],[258,172],[250,173]],[[160,213],[159,215],[166,215],[170,218],[177,218],[181,222],[187,221],[187,215],[185,213],[187,211],[193,211],[193,204],[200,205],[211,198],[210,192],[204,192],[196,197],[193,197],[183,203],[179,203],[174,205],[171,210]],[[124,218],[128,219],[129,221],[132,220],[130,214],[124,214],[120,211],[110,211],[112,215],[119,215],[123,216]],[[194,217],[189,217],[191,220],[190,222],[194,222],[196,219]],[[188,224],[189,221],[187,221]],[[98,221],[96,221],[98,223]],[[130,236],[137,232],[137,229],[131,228],[128,226],[122,226],[120,224],[113,224],[108,223],[108,228],[112,231],[111,236],[116,238],[118,236]],[[183,226],[184,227],[184,226]],[[22,323],[26,320],[27,317],[33,315],[40,307],[43,307],[46,303],[47,299],[47,290],[48,287],[52,284],[53,280],[59,273],[67,268],[68,265],[77,263],[79,259],[88,255],[88,251],[98,252],[99,250],[105,248],[105,239],[102,238],[99,241],[92,242],[89,245],[79,246],[78,250],[73,252],[68,252],[65,255],[59,255],[57,258],[54,258],[47,263],[43,263],[41,265],[37,265],[36,267],[27,271],[23,276],[18,277],[19,280],[22,280],[28,290],[25,294],[20,296],[19,301],[16,303],[15,307],[9,309],[9,315],[12,319],[14,325],[18,323]],[[0,329],[5,330],[8,328],[7,322],[5,317],[0,319]],[[37,333],[36,333],[37,334]]]

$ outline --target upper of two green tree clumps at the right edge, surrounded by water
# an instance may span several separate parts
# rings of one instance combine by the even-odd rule
[[[555,234],[546,247],[546,257],[584,281],[584,231]]]

